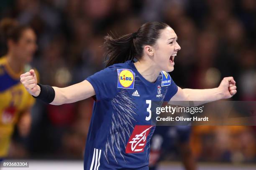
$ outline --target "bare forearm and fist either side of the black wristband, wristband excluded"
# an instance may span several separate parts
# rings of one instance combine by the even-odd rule
[[[37,79],[34,70],[30,70],[29,72],[20,75],[20,82],[22,82],[26,90],[31,95],[37,97],[40,94],[41,88],[39,85],[37,85]],[[77,102],[79,100],[84,100],[95,95],[94,88],[87,80],[64,88],[53,88],[55,91],[55,97],[54,100],[50,103],[51,105],[62,105],[65,103]]]

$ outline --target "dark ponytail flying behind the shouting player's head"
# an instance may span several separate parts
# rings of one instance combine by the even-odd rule
[[[136,50],[133,42],[135,38],[134,35],[135,34],[133,33],[126,34],[118,38],[112,37],[110,35],[104,37],[105,42],[103,44],[103,47],[105,47],[106,49],[106,67],[116,63],[123,63],[127,60],[134,59],[136,55]]]

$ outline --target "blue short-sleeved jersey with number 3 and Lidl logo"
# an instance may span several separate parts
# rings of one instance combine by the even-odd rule
[[[148,82],[129,60],[88,77],[96,93],[84,170],[148,170],[151,103],[169,101],[178,87],[167,72]]]

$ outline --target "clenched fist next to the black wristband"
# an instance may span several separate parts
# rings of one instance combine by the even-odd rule
[[[37,97],[40,94],[41,89],[37,85],[37,79],[34,70],[29,70],[29,72],[25,72],[24,74],[20,75],[20,82],[31,95]]]

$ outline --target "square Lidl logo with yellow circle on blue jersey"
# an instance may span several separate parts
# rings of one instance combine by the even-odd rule
[[[117,69],[118,88],[134,88],[135,73],[130,69]]]

